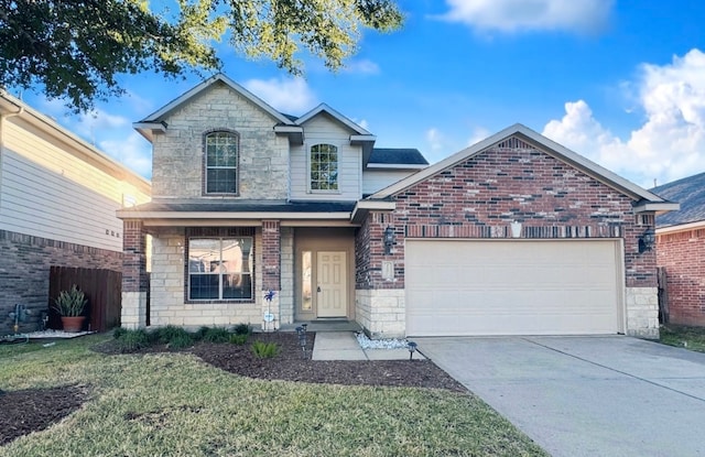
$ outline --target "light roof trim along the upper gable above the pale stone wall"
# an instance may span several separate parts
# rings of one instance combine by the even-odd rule
[[[249,100],[250,102],[259,107],[262,111],[267,112],[272,118],[274,118],[280,124],[295,126],[294,121],[290,117],[279,112],[278,110],[272,108],[270,105],[268,105],[265,101],[263,101],[261,98],[250,93],[245,87],[240,86],[239,84],[237,84],[236,81],[228,78],[221,73],[218,73],[217,75],[214,75],[208,79],[205,79],[204,81],[196,85],[192,89],[185,91],[177,98],[164,105],[162,108],[152,112],[141,121],[134,122],[132,126],[137,129],[138,132],[140,132],[140,134],[142,134],[142,137],[147,138],[149,141],[152,141],[153,130],[164,131],[166,129],[166,124],[164,123],[164,118],[166,118],[171,112],[178,109],[183,105],[187,104],[192,98],[198,96],[203,91],[207,90],[210,86],[218,83],[225,84],[231,90],[238,93],[240,96],[242,96],[243,98],[246,98],[247,100]]]

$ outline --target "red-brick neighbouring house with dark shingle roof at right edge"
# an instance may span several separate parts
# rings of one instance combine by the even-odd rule
[[[669,322],[705,326],[705,173],[651,189],[681,204],[657,217],[657,263],[665,270]]]

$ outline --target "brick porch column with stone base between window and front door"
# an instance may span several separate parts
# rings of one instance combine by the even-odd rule
[[[281,230],[279,220],[262,220],[262,330],[279,329],[281,313],[279,300],[281,293]],[[273,296],[267,300],[268,293]],[[271,295],[271,294],[270,294]],[[272,320],[268,319],[269,317]]]

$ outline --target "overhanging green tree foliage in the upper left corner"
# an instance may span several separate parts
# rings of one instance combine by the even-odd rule
[[[155,12],[145,0],[0,0],[0,87],[41,85],[76,110],[120,95],[117,77],[217,70],[215,44],[271,58],[301,74],[302,51],[343,66],[360,28],[388,32],[402,15],[393,0],[175,0]]]

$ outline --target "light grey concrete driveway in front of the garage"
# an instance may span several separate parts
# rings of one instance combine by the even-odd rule
[[[705,456],[705,353],[619,336],[413,340],[553,456]]]

